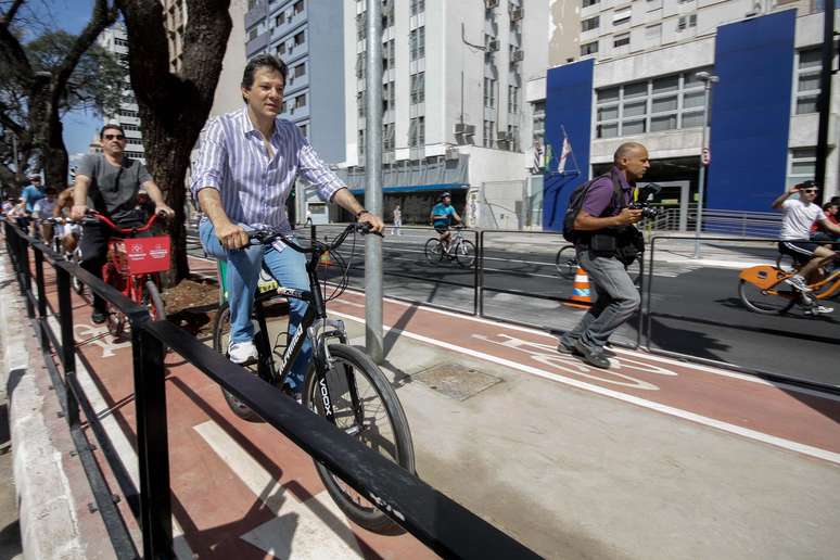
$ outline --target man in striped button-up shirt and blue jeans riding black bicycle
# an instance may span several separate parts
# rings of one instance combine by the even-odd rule
[[[382,220],[368,213],[330,170],[290,120],[278,118],[288,69],[270,54],[245,66],[241,93],[245,106],[209,120],[201,133],[191,190],[204,213],[199,236],[204,251],[228,262],[230,344],[234,364],[257,358],[251,311],[263,263],[284,288],[309,290],[305,256],[281,242],[249,246],[250,229],[290,232],[285,202],[302,175],[324,201],[335,202],[357,220],[382,231]],[[306,303],[289,302],[289,330],[294,332]],[[300,393],[311,355],[306,341],[284,390]]]

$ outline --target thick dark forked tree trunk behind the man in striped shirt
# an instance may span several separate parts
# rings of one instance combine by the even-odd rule
[[[162,4],[149,0],[117,0],[117,4],[128,31],[131,88],[139,106],[147,164],[176,213],[170,225],[170,280],[177,283],[190,272],[184,177],[221,74],[232,27],[230,0],[187,0],[183,69],[179,74],[169,71]]]

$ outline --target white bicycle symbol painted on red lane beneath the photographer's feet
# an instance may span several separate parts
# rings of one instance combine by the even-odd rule
[[[586,378],[611,385],[619,385],[642,391],[659,391],[659,386],[654,385],[653,383],[626,374],[622,371],[637,371],[639,373],[665,377],[678,376],[678,373],[675,371],[671,371],[660,366],[625,357],[621,357],[618,360],[618,369],[622,371],[618,371],[615,369],[601,370],[586,366],[574,356],[559,354],[557,348],[549,344],[525,341],[509,334],[501,333],[493,336],[487,336],[484,334],[473,334],[472,336],[489,344],[525,354],[534,361],[538,361],[544,366],[548,366],[556,372],[563,372],[578,378]]]

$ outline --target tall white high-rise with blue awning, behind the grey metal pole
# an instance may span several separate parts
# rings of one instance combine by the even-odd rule
[[[344,0],[343,175],[359,196],[369,94],[366,3]],[[383,79],[376,94],[383,99],[386,217],[399,203],[406,222],[424,224],[436,198],[450,191],[473,225],[523,225],[532,133],[524,87],[547,67],[547,21],[548,0],[383,1]],[[479,216],[482,204],[486,212]]]

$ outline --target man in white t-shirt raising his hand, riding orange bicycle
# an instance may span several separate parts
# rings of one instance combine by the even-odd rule
[[[823,208],[816,204],[817,191],[814,181],[805,181],[794,184],[773,202],[773,207],[785,213],[781,218],[781,241],[779,252],[790,255],[802,268],[792,277],[785,280],[787,283],[806,294],[812,290],[807,287],[817,280],[818,268],[837,257],[837,253],[830,249],[820,246],[811,241],[811,226],[819,222],[823,229],[840,233],[840,226],[828,220]],[[799,194],[799,199],[791,199]],[[816,305],[811,298],[805,298],[809,308],[805,313],[818,315],[831,313],[831,307]]]

